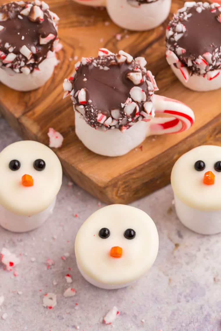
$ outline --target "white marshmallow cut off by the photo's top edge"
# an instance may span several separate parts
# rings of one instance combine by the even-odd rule
[[[107,0],[107,11],[117,25],[128,30],[150,30],[169,15],[171,0]]]

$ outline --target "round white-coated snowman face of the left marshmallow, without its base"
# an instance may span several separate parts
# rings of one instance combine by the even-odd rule
[[[0,205],[30,216],[45,210],[56,197],[62,168],[56,154],[35,141],[19,141],[0,153]]]

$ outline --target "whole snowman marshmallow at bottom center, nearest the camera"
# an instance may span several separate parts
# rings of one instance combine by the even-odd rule
[[[156,226],[145,212],[110,205],[83,223],[76,236],[75,255],[89,283],[117,289],[130,285],[151,268],[158,245]]]

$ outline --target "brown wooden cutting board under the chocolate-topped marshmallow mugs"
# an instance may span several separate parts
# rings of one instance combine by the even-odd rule
[[[5,2],[0,0],[0,4]],[[17,92],[0,84],[0,112],[25,139],[48,145],[48,128],[61,132],[64,143],[55,153],[75,183],[103,202],[129,203],[168,184],[172,166],[189,149],[200,144],[221,146],[220,90],[192,92],[174,76],[165,60],[169,19],[151,31],[129,32],[113,24],[105,9],[78,5],[72,0],[47,3],[60,17],[60,64],[53,77],[36,91]],[[183,1],[174,0],[171,13],[182,6]],[[118,33],[121,40],[116,38]],[[100,47],[144,56],[155,75],[158,93],[179,99],[193,109],[193,127],[180,134],[148,137],[142,146],[122,157],[103,157],[86,149],[75,134],[72,102],[70,98],[62,100],[62,83],[74,71],[78,59],[97,56]]]

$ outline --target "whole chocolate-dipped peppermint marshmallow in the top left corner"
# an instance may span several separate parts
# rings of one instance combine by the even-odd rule
[[[57,64],[58,20],[44,1],[0,6],[0,82],[18,91],[44,85]]]

